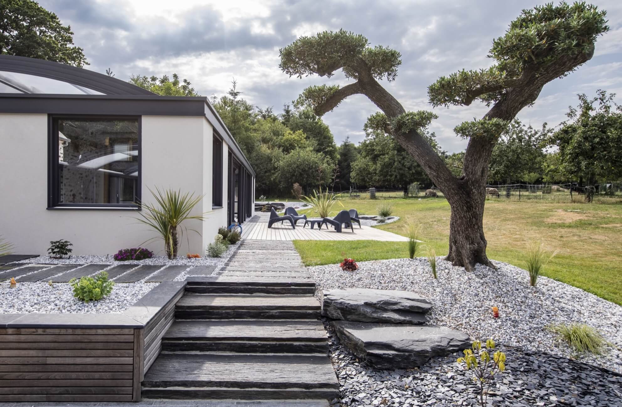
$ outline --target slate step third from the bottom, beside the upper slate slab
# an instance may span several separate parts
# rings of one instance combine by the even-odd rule
[[[177,319],[315,319],[320,303],[307,295],[187,294],[175,306]]]

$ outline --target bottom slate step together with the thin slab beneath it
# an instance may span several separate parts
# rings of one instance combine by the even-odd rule
[[[335,398],[325,355],[160,354],[145,374],[147,398]]]

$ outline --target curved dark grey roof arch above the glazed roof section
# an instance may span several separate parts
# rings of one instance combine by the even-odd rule
[[[112,78],[102,73],[93,72],[84,68],[65,65],[64,63],[39,60],[35,58],[15,57],[14,55],[0,55],[0,71],[27,73],[28,75],[42,76],[84,86],[104,94],[113,95],[152,95],[147,89],[131,83]]]

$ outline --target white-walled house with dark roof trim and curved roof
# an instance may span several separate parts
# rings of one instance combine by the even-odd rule
[[[180,254],[204,254],[218,227],[253,215],[253,168],[204,97],[0,55],[0,154],[0,235],[19,253],[58,239],[73,254],[141,245],[155,236],[134,220],[148,188],[203,195],[195,213],[210,213],[188,221],[200,236],[184,231]]]

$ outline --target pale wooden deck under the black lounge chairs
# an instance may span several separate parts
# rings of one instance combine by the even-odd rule
[[[255,240],[383,240],[385,242],[407,242],[406,236],[400,236],[391,232],[376,229],[371,226],[361,228],[356,225],[354,232],[344,227],[343,232],[337,233],[330,227],[318,230],[311,229],[309,225],[302,227],[303,222],[299,222],[295,229],[286,224],[274,224],[268,229],[265,222],[244,222],[244,239]]]

